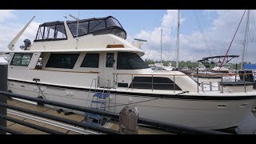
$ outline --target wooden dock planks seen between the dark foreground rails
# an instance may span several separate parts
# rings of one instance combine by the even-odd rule
[[[34,110],[34,111],[37,111],[42,114],[51,114],[54,116],[58,116],[60,118],[67,118],[67,119],[74,120],[77,122],[84,121],[84,116],[82,114],[65,115],[64,113],[58,113],[57,110],[54,110],[50,107],[38,106],[38,105],[34,105],[34,104],[31,104],[28,102],[18,101],[15,99],[8,99],[7,103],[11,106],[18,106],[18,107],[21,107],[24,109]],[[7,110],[7,116],[10,118],[15,118],[15,119],[21,120],[22,122],[30,122],[30,123],[33,123],[38,126],[43,126],[43,127],[49,128],[51,130],[57,130],[64,134],[98,134],[97,132],[93,132],[90,130],[84,130],[84,129],[78,128],[76,126],[68,126],[68,125],[66,125],[64,123],[60,123],[60,122],[52,122],[49,119],[37,118],[37,117],[34,117],[33,115],[22,114],[18,111],[14,111],[14,110]],[[22,134],[47,134],[46,132],[42,132],[40,130],[35,130],[30,127],[22,126],[18,123],[10,122],[10,121],[7,121],[6,126],[10,130],[15,130],[15,131],[21,132]],[[112,130],[119,130],[118,122],[107,122],[104,127],[112,129]],[[171,134],[171,133],[139,126],[138,134]]]

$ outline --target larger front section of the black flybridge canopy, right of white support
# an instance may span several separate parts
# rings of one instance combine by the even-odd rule
[[[69,26],[73,37],[77,37],[78,32],[78,37],[87,34],[114,34],[120,38],[126,39],[126,30],[124,30],[118,20],[112,16],[67,21],[66,23]]]

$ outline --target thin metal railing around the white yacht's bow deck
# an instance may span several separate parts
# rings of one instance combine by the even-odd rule
[[[238,74],[238,72],[234,72],[234,73],[229,73],[229,74],[122,74],[122,73],[115,73],[114,74],[114,87],[118,86],[118,78],[124,78],[125,75],[130,77],[130,85],[126,85],[127,86],[127,90],[134,90],[134,89],[143,89],[143,86],[134,86],[134,85],[145,85],[146,87],[144,87],[145,89],[150,89],[152,92],[154,90],[173,90],[173,92],[175,93],[175,91],[178,90],[178,87],[176,85],[177,82],[177,78],[178,77],[182,77],[182,76],[189,76],[190,78],[192,78],[198,85],[198,93],[199,92],[206,92],[206,91],[220,91],[223,93],[223,82],[244,82],[244,90],[246,92],[246,82],[255,82],[254,80],[250,80],[248,81],[248,79],[246,79],[247,75],[251,75],[251,74],[255,74],[254,72],[252,73],[243,73],[243,74]],[[150,82],[134,82],[134,77],[150,77]],[[170,78],[170,80],[172,80],[173,82],[154,82],[154,78],[155,77],[166,77],[166,78]],[[199,81],[199,78],[202,78],[200,76],[205,76],[205,78],[209,78],[207,81]],[[208,76],[208,77],[207,77]],[[219,76],[218,78],[210,78],[210,76]],[[241,79],[239,79],[239,77]],[[229,79],[229,78],[233,78],[233,79]],[[129,79],[129,78],[128,78]],[[216,80],[217,79],[217,80]],[[149,80],[148,80],[149,81]],[[162,86],[173,86],[170,89],[167,89],[166,87],[161,87]],[[124,86],[122,86],[124,87]]]

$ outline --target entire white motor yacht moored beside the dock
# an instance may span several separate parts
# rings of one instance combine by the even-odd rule
[[[10,51],[9,91],[114,113],[137,106],[139,117],[206,130],[234,128],[255,107],[249,82],[202,90],[180,71],[151,70],[143,54],[111,16],[45,22]]]

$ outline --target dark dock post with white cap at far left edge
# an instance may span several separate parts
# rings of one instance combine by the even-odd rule
[[[8,62],[1,60],[2,59],[0,59],[0,90],[7,91]],[[0,94],[0,102],[6,104],[7,96],[4,94]],[[7,114],[6,107],[0,107],[0,114]],[[6,127],[6,119],[0,118],[0,126]],[[0,130],[0,134],[6,134],[6,131]]]

